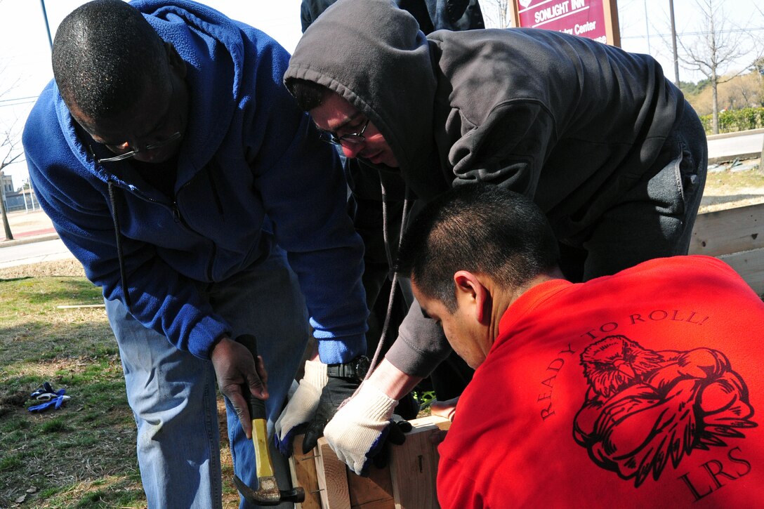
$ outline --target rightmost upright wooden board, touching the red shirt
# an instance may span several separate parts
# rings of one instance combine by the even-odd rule
[[[438,472],[438,449],[429,441],[432,433],[448,429],[450,422],[440,417],[410,421],[414,426],[406,433],[402,446],[390,451],[390,478],[396,509],[429,509],[439,507],[435,491]]]

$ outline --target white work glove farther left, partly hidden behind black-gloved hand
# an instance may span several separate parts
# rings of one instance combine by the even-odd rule
[[[276,421],[274,439],[280,452],[286,456],[292,454],[292,440],[298,435],[298,426],[313,420],[319,407],[321,393],[329,382],[326,365],[319,361],[305,361],[305,374],[299,381],[299,387],[286,404]]]

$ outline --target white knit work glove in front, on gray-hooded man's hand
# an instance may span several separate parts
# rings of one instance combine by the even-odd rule
[[[406,441],[403,433],[411,430],[411,424],[393,417],[397,404],[365,381],[324,428],[329,446],[356,474],[366,475],[371,463],[382,468],[387,464],[387,443]]]

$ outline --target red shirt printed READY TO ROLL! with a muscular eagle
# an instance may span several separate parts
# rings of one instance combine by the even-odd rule
[[[764,303],[714,258],[534,287],[439,447],[441,506],[761,504],[762,338]]]

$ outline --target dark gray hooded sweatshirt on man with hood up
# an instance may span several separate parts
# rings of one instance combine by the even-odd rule
[[[676,156],[665,141],[695,115],[649,55],[530,28],[425,36],[390,0],[327,9],[293,53],[294,78],[337,92],[390,145],[400,167],[351,161],[361,201],[379,199],[380,180],[388,200],[495,183],[533,196],[571,243]],[[414,305],[387,359],[426,376],[447,354]]]

